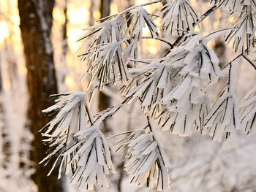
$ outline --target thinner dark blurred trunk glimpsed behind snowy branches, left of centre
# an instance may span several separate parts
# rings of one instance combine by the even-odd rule
[[[105,18],[108,15],[110,15],[110,5],[111,5],[111,0],[100,0],[99,11],[101,14],[101,18]],[[110,104],[111,104],[110,97],[105,95],[105,93],[99,92],[99,106],[98,106],[99,111],[105,110],[106,108],[110,107]],[[111,131],[108,126],[108,118],[106,118],[103,121],[102,131],[105,133],[108,133]]]

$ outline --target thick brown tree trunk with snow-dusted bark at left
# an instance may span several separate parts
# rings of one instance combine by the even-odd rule
[[[32,179],[39,192],[63,191],[56,175],[47,177],[50,166],[43,167],[39,161],[45,157],[48,146],[42,144],[39,129],[50,120],[41,111],[53,104],[48,96],[57,93],[56,74],[53,64],[53,47],[50,31],[53,22],[53,0],[18,0],[20,30],[26,58],[27,85],[29,90],[29,128],[34,134],[31,160],[36,172]]]

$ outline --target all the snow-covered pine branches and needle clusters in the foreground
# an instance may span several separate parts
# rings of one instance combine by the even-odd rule
[[[53,161],[52,170],[60,164],[59,177],[61,172],[71,174],[72,183],[81,188],[107,186],[107,176],[114,168],[100,124],[132,102],[140,104],[147,124],[121,133],[125,137],[117,143],[116,151],[123,150],[125,154],[124,171],[131,183],[157,191],[170,187],[170,164],[161,141],[155,137],[152,121],[172,134],[208,135],[217,142],[232,136],[237,129],[244,129],[247,134],[255,128],[255,90],[242,101],[235,91],[238,59],[256,69],[249,58],[255,45],[255,1],[212,1],[211,9],[203,15],[198,15],[187,0],[168,1],[157,15],[145,9],[162,2],[136,5],[108,16],[86,28],[86,34],[79,39],[83,46],[78,56],[86,66],[89,91],[53,95],[59,97],[56,104],[43,111],[55,118],[42,128],[45,142],[51,147],[42,162]],[[211,31],[206,36],[196,33],[195,27],[217,9],[237,18],[233,27]],[[155,23],[156,17],[161,18],[161,26]],[[143,28],[148,29],[150,37],[143,36]],[[238,55],[221,68],[208,42],[223,34],[227,44],[233,42]],[[176,40],[168,39],[168,35],[175,35]],[[142,39],[155,39],[170,48],[162,58],[141,59],[138,45]],[[226,85],[212,99],[213,87],[223,76],[227,76]],[[120,84],[124,101],[96,114],[91,112],[95,91]]]

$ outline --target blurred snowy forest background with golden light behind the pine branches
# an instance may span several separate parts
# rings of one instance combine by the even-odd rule
[[[83,64],[77,57],[77,40],[83,28],[100,18],[114,15],[143,0],[7,0],[0,1],[0,191],[78,191],[69,178],[46,177],[50,166],[39,165],[48,149],[42,144],[39,129],[49,120],[41,111],[51,104],[49,95],[67,91],[86,91]],[[210,7],[210,1],[192,0],[199,14]],[[146,7],[154,12],[159,7]],[[195,28],[202,34],[217,31],[225,12],[218,10]],[[227,20],[232,23],[233,20]],[[211,47],[221,65],[235,53],[222,38]],[[143,40],[141,55],[154,58],[165,49],[151,39]],[[241,61],[238,72],[238,96],[243,97],[255,85],[256,74]],[[105,88],[95,101],[96,110],[118,103],[116,90]],[[105,122],[107,135],[129,130],[142,123],[138,107],[130,106]],[[120,118],[125,117],[125,118]],[[227,142],[211,142],[211,138],[178,137],[159,133],[171,163],[172,191],[256,191],[255,132],[238,134]],[[114,141],[113,141],[114,145]],[[150,191],[130,187],[121,154],[117,174],[111,177],[111,191]],[[129,186],[129,187],[127,187]],[[101,191],[96,188],[95,191]]]

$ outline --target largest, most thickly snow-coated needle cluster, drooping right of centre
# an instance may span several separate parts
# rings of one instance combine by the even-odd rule
[[[162,97],[167,105],[157,117],[159,124],[173,134],[189,135],[197,129],[203,134],[206,98],[221,75],[217,55],[208,49],[206,39],[195,35],[171,50],[163,63],[178,69],[181,80]]]

